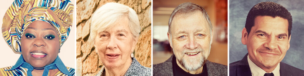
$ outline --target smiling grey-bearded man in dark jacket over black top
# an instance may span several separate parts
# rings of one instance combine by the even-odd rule
[[[190,2],[178,5],[167,35],[174,55],[153,65],[154,76],[227,76],[227,66],[207,60],[213,32],[204,8]]]

